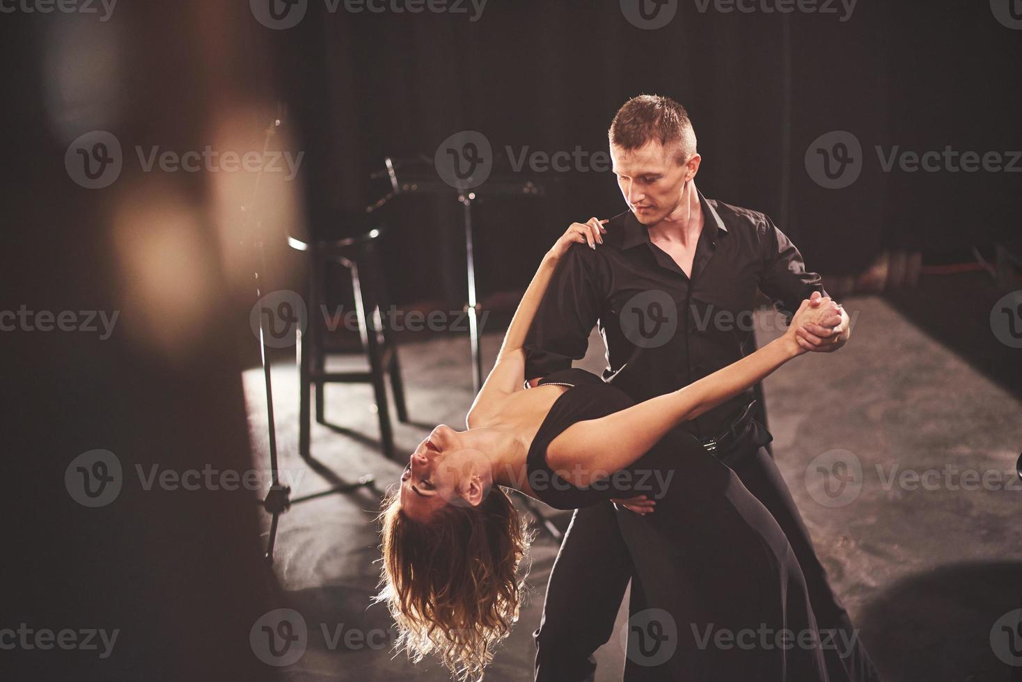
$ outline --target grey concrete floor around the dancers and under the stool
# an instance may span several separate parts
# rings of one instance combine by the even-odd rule
[[[845,306],[856,315],[846,348],[803,356],[765,382],[781,471],[885,680],[1007,682],[1011,669],[994,655],[990,631],[1001,616],[1022,606],[1022,528],[1012,523],[1022,512],[1014,474],[1022,403],[884,300],[855,298]],[[778,328],[774,313],[757,318],[760,342]],[[499,333],[484,337],[486,358],[500,341]],[[407,452],[438,423],[464,428],[472,392],[462,334],[407,343],[401,353],[415,422],[396,426],[398,447]],[[346,367],[349,359],[340,362]],[[602,367],[599,337],[580,364]],[[332,426],[314,425],[320,466],[310,470],[296,455],[296,372],[289,363],[273,372],[282,467],[300,477],[296,494],[365,473],[381,484],[398,479],[401,466],[376,450],[368,385],[327,388]],[[246,372],[244,384],[253,442],[264,456],[261,371]],[[828,495],[819,474],[835,457],[855,476],[837,497],[833,488]],[[394,657],[388,617],[370,606],[378,577],[377,506],[371,492],[361,491],[298,504],[282,518],[280,605],[296,610],[309,627],[306,653],[281,669],[282,679],[450,679],[432,662],[413,667]],[[556,549],[546,536],[533,546],[530,601],[486,680],[531,679],[530,632]],[[349,631],[357,638],[345,645]],[[620,646],[611,642],[599,659],[597,680],[620,680]]]

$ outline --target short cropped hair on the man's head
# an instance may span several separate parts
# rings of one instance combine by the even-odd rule
[[[651,140],[667,147],[680,145],[678,162],[684,163],[696,153],[696,133],[685,107],[660,95],[633,97],[617,110],[607,132],[610,144],[623,149],[639,149]]]

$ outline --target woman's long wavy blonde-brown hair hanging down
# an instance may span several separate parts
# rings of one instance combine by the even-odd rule
[[[518,620],[527,522],[498,486],[478,506],[448,504],[428,522],[404,514],[398,491],[381,508],[376,600],[393,616],[398,650],[415,663],[433,653],[461,682],[482,679]]]

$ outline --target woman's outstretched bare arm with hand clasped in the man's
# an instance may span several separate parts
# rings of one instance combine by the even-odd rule
[[[670,429],[747,390],[805,352],[796,340],[795,330],[803,324],[831,324],[835,316],[840,318],[833,301],[829,298],[821,301],[819,306],[802,301],[784,336],[737,362],[673,393],[571,425],[550,444],[548,464],[554,471],[570,473],[562,475],[582,486],[589,485],[593,478],[631,466]]]

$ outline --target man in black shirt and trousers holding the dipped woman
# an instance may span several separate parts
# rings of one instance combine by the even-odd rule
[[[801,254],[769,217],[706,199],[696,189],[701,157],[678,102],[649,95],[629,100],[614,116],[609,141],[630,210],[604,228],[593,218],[593,248],[574,246],[558,266],[525,345],[529,384],[582,358],[599,323],[607,346],[604,380],[645,400],[741,358],[752,342],[757,289],[789,320],[801,300],[824,293],[820,276],[805,271]],[[833,329],[810,326],[798,335],[808,350],[837,350],[848,339],[848,316]],[[764,447],[773,437],[754,413],[750,392],[684,428],[734,470],[784,530],[819,629],[853,642],[825,650],[830,679],[877,680]],[[572,518],[535,633],[538,682],[593,679],[592,654],[613,634],[633,570],[615,515],[654,508],[639,499],[622,505],[632,512],[606,504]]]

